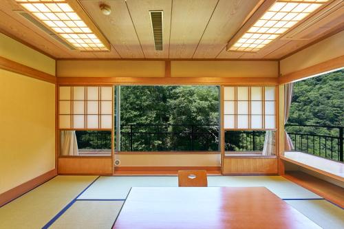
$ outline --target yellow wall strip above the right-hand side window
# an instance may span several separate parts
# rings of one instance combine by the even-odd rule
[[[329,61],[344,55],[344,31],[281,60],[281,74],[286,75],[306,67]],[[344,65],[344,63],[343,63]]]

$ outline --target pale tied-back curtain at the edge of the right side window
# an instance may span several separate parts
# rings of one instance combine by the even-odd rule
[[[287,123],[289,118],[289,110],[290,105],[292,103],[292,89],[293,83],[287,83],[284,85],[284,124]],[[294,146],[292,144],[292,140],[290,139],[288,133],[284,131],[284,150],[285,151],[292,151]]]

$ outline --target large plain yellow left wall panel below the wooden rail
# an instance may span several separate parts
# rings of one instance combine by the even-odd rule
[[[55,85],[0,69],[0,193],[55,168]]]

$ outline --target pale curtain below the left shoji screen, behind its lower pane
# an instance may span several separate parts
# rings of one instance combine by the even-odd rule
[[[78,155],[78,142],[75,131],[61,131],[61,156]]]

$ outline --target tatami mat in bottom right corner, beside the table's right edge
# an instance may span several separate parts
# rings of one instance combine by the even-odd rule
[[[324,229],[344,228],[344,210],[329,201],[316,199],[286,202]]]

